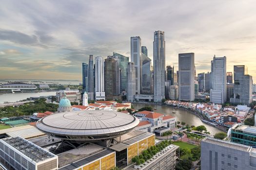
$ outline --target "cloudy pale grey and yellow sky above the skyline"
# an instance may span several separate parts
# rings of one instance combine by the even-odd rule
[[[130,57],[131,36],[153,59],[158,30],[166,65],[194,52],[201,73],[226,56],[227,71],[247,65],[256,81],[254,0],[1,0],[0,79],[81,80],[90,54]]]

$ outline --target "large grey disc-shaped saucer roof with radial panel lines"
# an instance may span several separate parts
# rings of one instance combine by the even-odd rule
[[[139,123],[132,115],[106,110],[56,113],[40,119],[36,127],[45,134],[75,141],[95,141],[123,135]]]

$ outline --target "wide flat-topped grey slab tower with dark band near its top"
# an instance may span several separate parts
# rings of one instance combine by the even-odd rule
[[[195,100],[195,53],[178,54],[178,100]]]

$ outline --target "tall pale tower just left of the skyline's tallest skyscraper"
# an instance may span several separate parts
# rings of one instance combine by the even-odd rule
[[[136,94],[140,94],[141,88],[141,39],[139,36],[131,37],[131,62],[136,69]]]

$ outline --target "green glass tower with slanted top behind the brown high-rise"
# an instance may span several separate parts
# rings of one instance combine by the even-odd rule
[[[113,52],[113,56],[117,56],[119,59],[119,68],[120,68],[120,92],[126,91],[127,87],[127,66],[129,62],[129,57]]]

